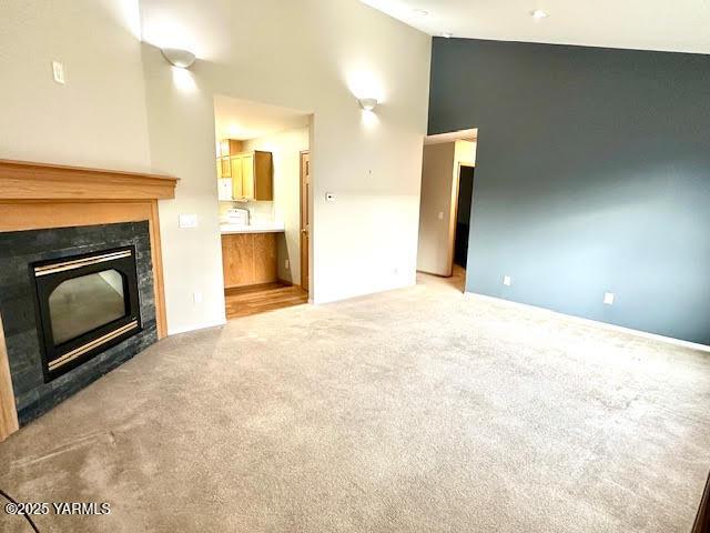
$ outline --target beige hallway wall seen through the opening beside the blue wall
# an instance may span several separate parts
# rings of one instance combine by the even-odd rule
[[[425,144],[417,270],[452,275],[459,164],[476,163],[476,142]]]

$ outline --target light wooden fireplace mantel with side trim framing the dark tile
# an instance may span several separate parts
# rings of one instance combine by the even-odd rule
[[[176,178],[0,159],[0,232],[148,221],[158,336],[166,335],[158,201]],[[0,252],[1,253],[1,252]],[[18,430],[0,316],[0,442]]]

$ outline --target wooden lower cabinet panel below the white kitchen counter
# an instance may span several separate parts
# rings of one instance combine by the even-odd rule
[[[273,283],[276,268],[276,233],[222,235],[224,288]]]

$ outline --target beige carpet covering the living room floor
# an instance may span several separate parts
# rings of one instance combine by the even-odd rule
[[[422,280],[166,339],[0,444],[0,487],[111,505],[42,532],[690,530],[707,353]]]

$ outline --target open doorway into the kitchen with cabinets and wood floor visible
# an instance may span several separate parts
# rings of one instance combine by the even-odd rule
[[[311,115],[224,95],[214,115],[226,316],[306,303]]]

